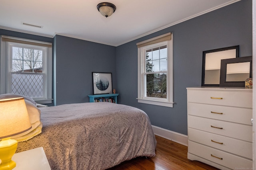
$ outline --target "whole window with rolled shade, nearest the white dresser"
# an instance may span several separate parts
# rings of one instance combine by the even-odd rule
[[[172,33],[137,45],[138,102],[173,107]]]

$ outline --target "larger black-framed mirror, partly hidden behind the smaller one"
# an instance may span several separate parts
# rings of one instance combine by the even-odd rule
[[[239,57],[239,45],[203,51],[202,86],[220,86],[220,62]]]

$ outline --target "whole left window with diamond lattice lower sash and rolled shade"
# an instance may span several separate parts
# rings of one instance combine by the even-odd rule
[[[2,50],[3,49],[3,50]],[[0,92],[52,102],[52,44],[1,36]]]

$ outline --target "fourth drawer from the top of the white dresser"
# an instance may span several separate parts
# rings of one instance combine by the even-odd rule
[[[188,140],[252,159],[252,143],[188,128]]]

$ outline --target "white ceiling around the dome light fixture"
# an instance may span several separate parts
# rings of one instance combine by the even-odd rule
[[[106,18],[96,8],[102,0],[1,0],[0,28],[118,46],[237,1],[108,0],[116,11]]]

